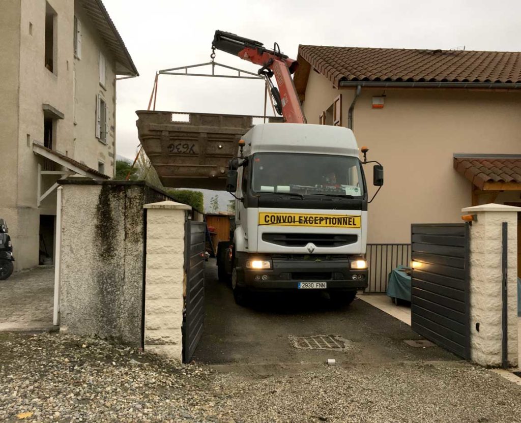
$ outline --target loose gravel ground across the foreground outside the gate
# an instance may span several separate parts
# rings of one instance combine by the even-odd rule
[[[0,357],[7,422],[521,421],[518,385],[458,361],[180,366],[49,333],[0,333]]]

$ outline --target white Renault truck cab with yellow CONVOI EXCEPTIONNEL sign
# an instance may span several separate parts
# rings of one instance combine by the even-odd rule
[[[332,302],[351,302],[368,279],[368,196],[353,132],[265,123],[240,143],[227,182],[236,227],[218,254],[235,301],[256,291],[325,290]]]

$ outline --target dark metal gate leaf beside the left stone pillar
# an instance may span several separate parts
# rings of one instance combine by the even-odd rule
[[[183,315],[183,362],[190,362],[203,334],[205,222],[188,220],[184,226],[184,269],[187,295]]]

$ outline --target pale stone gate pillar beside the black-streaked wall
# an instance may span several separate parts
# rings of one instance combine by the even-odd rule
[[[182,361],[184,222],[192,207],[173,201],[145,204],[144,347]]]

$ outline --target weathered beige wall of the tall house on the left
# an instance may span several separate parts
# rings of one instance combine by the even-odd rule
[[[44,65],[46,2],[6,0],[0,14],[3,40],[0,43],[3,57],[0,63],[0,98],[3,102],[0,151],[9,157],[0,169],[0,178],[10,181],[4,183],[0,191],[0,216],[9,224],[17,270],[38,265],[40,215],[56,214],[55,193],[49,195],[39,208],[36,207],[37,165],[43,164],[43,159],[32,152],[32,142],[43,142],[42,104],[49,104],[65,115],[57,122],[55,150],[96,170],[98,160],[102,160],[107,175],[114,173],[115,61],[82,9],[77,6],[75,10],[75,2],[48,0],[48,3],[57,14],[57,66],[54,73]],[[75,13],[83,24],[82,60],[73,57]],[[97,52],[100,48],[107,59],[106,90],[98,83]],[[73,119],[75,67],[77,125]],[[100,91],[107,103],[111,128],[108,145],[95,138],[95,96]],[[56,179],[56,176],[44,177],[42,192]]]

